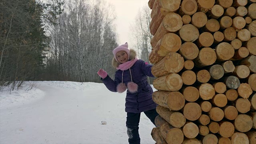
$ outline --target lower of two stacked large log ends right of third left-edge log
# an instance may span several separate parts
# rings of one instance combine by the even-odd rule
[[[180,46],[179,53],[186,60],[194,60],[198,56],[199,49],[193,42],[184,42]]]

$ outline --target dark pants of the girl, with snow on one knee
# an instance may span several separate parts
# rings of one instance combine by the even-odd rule
[[[155,124],[155,118],[158,116],[156,109],[148,110],[144,112],[150,121]],[[126,117],[126,127],[128,134],[129,144],[140,144],[140,135],[139,135],[139,122],[140,122],[140,113],[131,113],[127,112]]]

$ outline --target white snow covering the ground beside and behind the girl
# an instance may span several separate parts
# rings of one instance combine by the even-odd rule
[[[0,144],[128,144],[125,92],[60,81],[8,89],[0,92]],[[154,125],[144,113],[139,127],[141,144],[154,144]]]

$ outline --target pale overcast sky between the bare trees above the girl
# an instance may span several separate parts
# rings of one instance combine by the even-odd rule
[[[148,6],[148,0],[106,0],[113,4],[116,10],[116,32],[118,33],[118,43],[124,44],[128,42],[132,44],[132,33],[130,26],[134,22],[138,10],[143,6]]]

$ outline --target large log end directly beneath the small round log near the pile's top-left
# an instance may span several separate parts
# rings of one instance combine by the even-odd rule
[[[194,42],[199,37],[199,31],[194,25],[185,24],[180,28],[179,35],[185,42]]]

